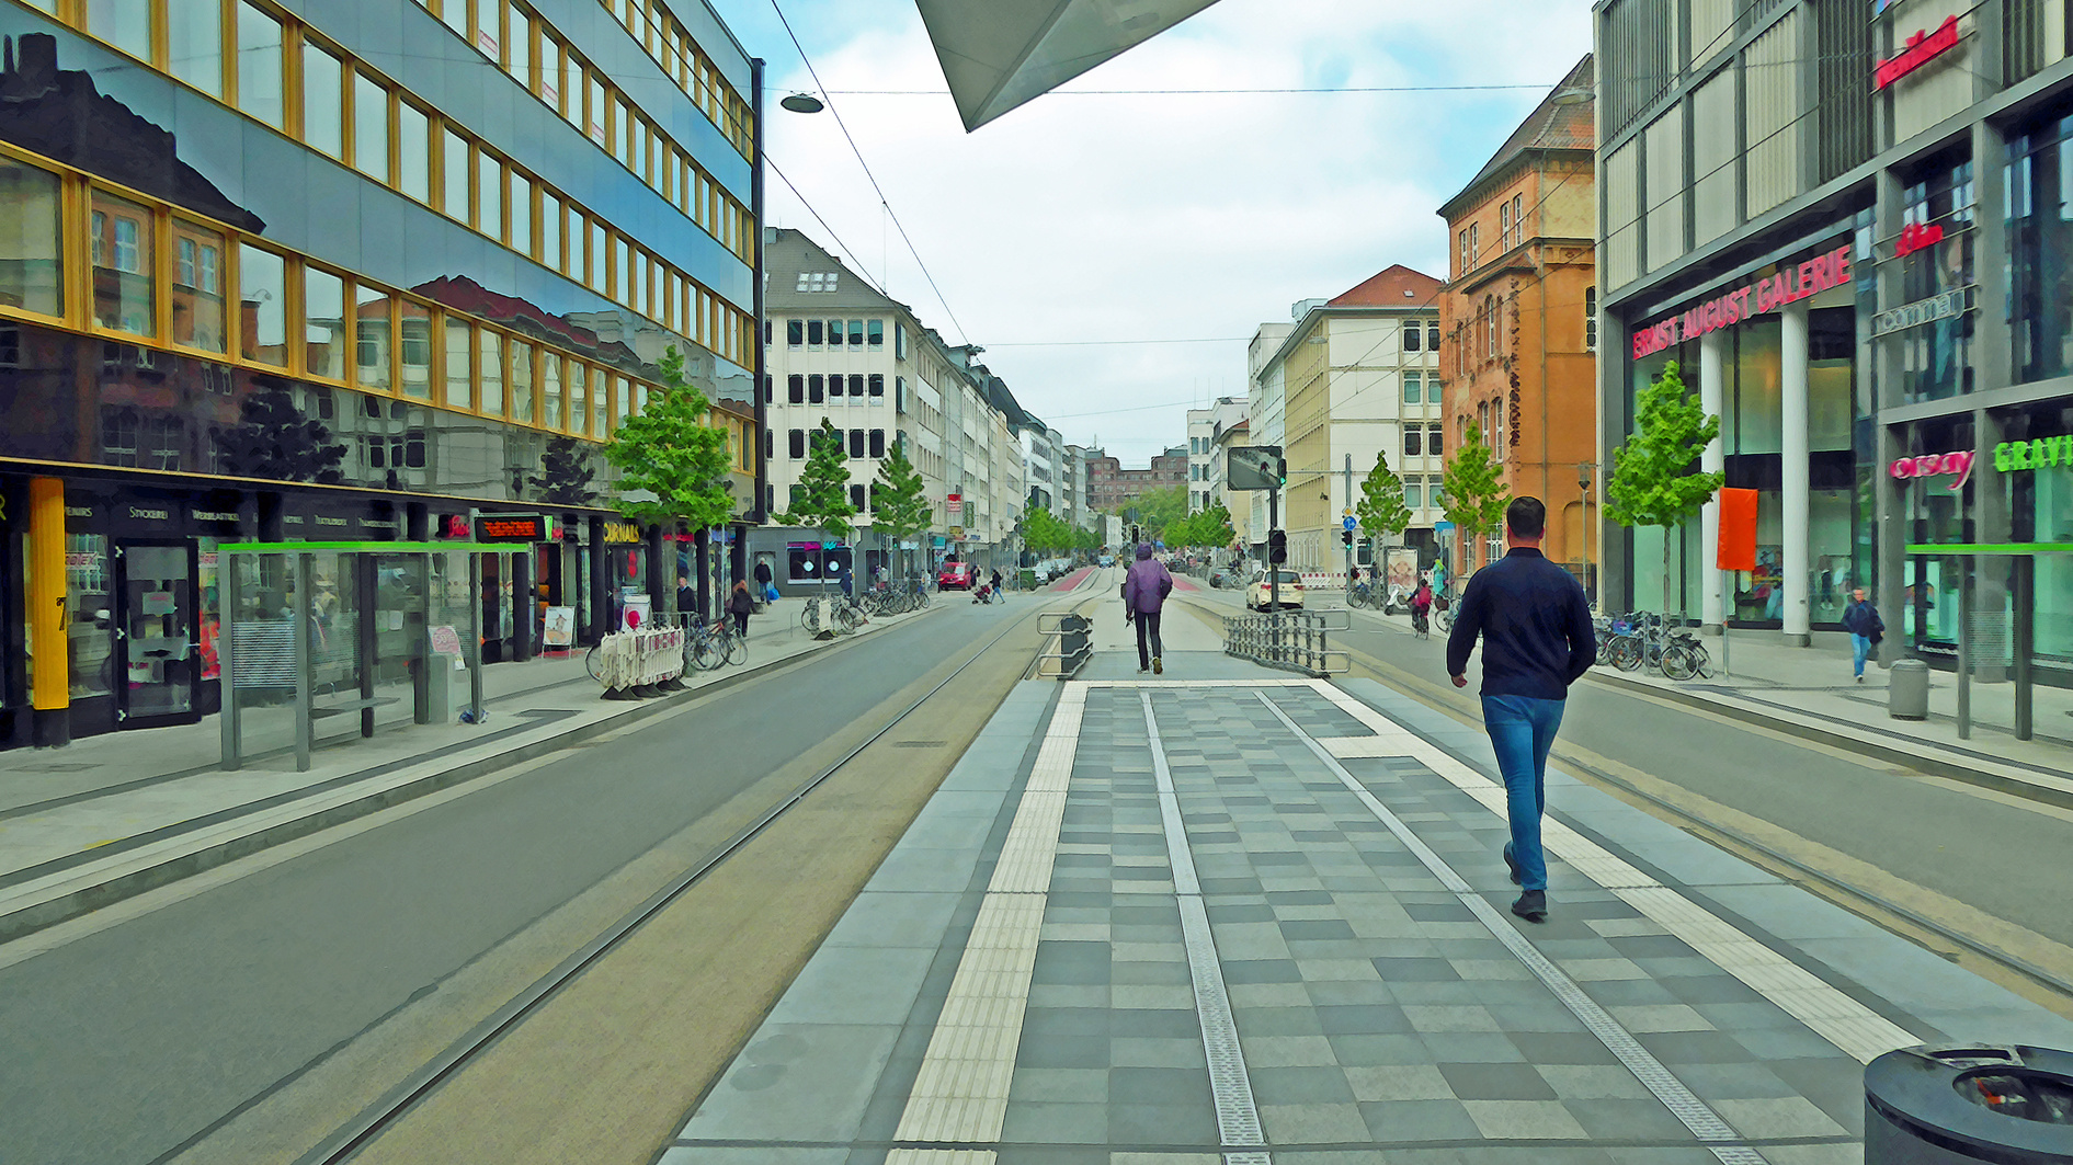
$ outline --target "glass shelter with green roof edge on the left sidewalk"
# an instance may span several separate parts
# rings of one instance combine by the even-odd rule
[[[203,638],[222,659],[224,769],[483,715],[483,556],[502,545],[226,543]],[[464,686],[464,688],[462,688]]]

